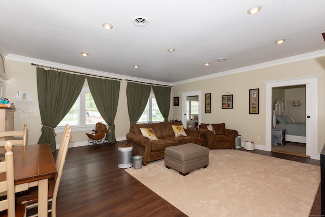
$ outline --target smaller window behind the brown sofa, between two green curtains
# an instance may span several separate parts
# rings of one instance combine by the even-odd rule
[[[161,121],[164,121],[164,117],[160,113],[154,94],[151,93],[146,108],[144,109],[140,119],[138,120],[138,123]]]

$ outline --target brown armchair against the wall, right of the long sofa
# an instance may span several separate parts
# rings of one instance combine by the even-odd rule
[[[238,131],[225,128],[225,123],[211,123],[213,130],[208,130],[210,123],[201,123],[200,138],[203,139],[202,145],[208,148],[236,148],[236,137]]]

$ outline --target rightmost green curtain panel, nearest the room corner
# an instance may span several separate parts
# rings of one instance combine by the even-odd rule
[[[154,96],[164,121],[168,122],[169,108],[171,105],[171,88],[165,86],[152,86]]]

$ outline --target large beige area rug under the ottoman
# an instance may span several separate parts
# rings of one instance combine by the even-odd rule
[[[182,176],[164,160],[125,171],[188,216],[309,215],[320,167],[240,150],[210,150],[209,166]]]

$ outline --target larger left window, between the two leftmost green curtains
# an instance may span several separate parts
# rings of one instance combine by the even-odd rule
[[[89,87],[84,86],[75,104],[57,126],[66,126],[68,123],[71,127],[90,127],[97,122],[107,125],[96,107]]]

